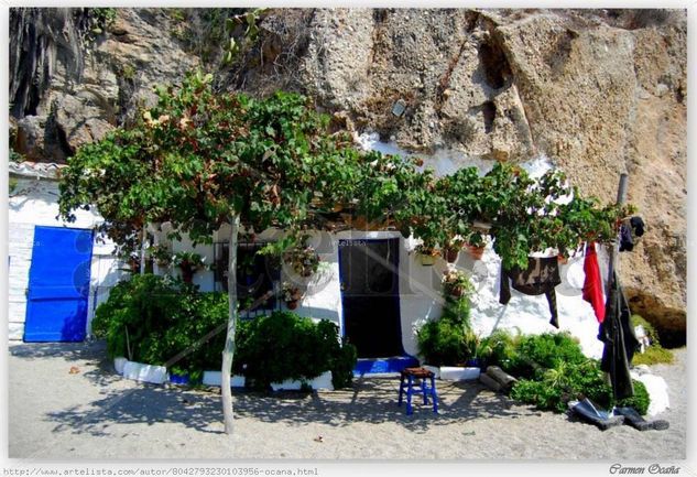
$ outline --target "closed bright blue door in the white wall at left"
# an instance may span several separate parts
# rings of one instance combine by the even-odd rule
[[[92,231],[34,229],[25,342],[81,342],[87,325]]]

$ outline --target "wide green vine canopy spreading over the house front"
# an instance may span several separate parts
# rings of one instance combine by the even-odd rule
[[[631,213],[584,198],[558,171],[533,178],[497,163],[483,176],[465,167],[436,177],[418,159],[359,151],[347,133],[330,133],[306,97],[258,99],[211,85],[210,74],[195,72],[179,87],[160,86],[157,105],[133,127],[80,148],[62,173],[61,215],[74,220],[76,209],[96,207],[101,230],[124,251],[146,224],[170,221],[175,237],[205,242],[232,215],[297,238],[341,210],[412,234],[429,250],[481,245],[477,220],[489,224],[510,268],[525,267],[532,251],[568,256],[584,241],[612,240]]]

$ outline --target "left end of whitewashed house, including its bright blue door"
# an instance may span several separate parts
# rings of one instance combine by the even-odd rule
[[[58,216],[61,165],[10,162],[8,210],[9,338],[81,342],[96,306],[123,275],[113,243],[98,239],[102,220],[78,210],[66,224]]]

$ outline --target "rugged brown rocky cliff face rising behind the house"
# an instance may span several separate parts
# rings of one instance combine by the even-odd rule
[[[59,26],[73,25],[78,37],[84,20],[43,18],[37,24],[47,26],[32,30],[13,11],[13,65],[29,54],[43,65],[11,74],[13,100],[26,88],[21,72],[24,82],[42,78],[24,95],[30,107],[13,109],[18,152],[64,160],[127,121],[151,100],[154,83],[218,57],[214,46],[202,61],[182,39],[219,28],[219,18],[117,13],[76,52],[70,29]],[[218,72],[221,88],[301,90],[337,127],[373,130],[407,150],[498,161],[544,154],[603,202],[614,200],[628,172],[629,200],[649,228],[621,254],[623,283],[636,313],[666,339],[684,340],[685,11],[270,10],[259,26],[237,64]]]

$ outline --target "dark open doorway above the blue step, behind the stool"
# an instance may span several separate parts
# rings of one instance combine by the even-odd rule
[[[344,327],[359,358],[401,356],[399,239],[339,240]]]

